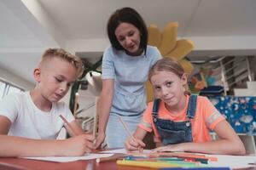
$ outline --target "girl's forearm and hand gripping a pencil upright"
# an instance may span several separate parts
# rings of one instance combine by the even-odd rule
[[[143,139],[148,132],[141,127],[137,127],[133,137],[125,141],[126,150],[140,150],[140,147],[145,147],[146,144],[143,143]]]

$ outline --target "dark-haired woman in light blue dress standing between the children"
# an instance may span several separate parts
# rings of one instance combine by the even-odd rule
[[[108,20],[111,46],[102,59],[98,148],[105,137],[109,148],[124,147],[128,134],[119,116],[133,133],[146,108],[145,82],[148,71],[161,58],[157,48],[148,46],[148,30],[133,8],[119,8]]]

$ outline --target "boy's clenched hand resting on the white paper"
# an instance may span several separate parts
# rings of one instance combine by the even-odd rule
[[[61,147],[63,150],[62,156],[83,156],[93,149],[92,141],[94,136],[90,134],[81,134],[79,136],[66,139]]]

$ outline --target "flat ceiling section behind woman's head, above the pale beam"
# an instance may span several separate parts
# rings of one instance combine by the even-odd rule
[[[106,37],[116,8],[133,7],[149,26],[178,21],[179,37],[254,35],[254,0],[40,0],[68,39]],[[254,22],[253,22],[254,21]]]

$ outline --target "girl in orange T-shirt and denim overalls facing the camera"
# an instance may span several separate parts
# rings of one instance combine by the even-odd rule
[[[125,142],[127,150],[144,147],[144,136],[154,130],[163,145],[154,151],[245,154],[241,140],[212,103],[206,97],[184,93],[187,76],[177,61],[160,59],[149,71],[149,80],[156,99],[148,104],[134,138]],[[208,129],[217,133],[217,140],[211,140]]]

